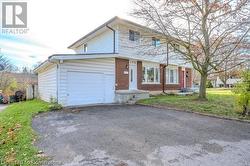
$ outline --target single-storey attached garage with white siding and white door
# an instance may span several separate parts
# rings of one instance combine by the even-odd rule
[[[39,96],[63,106],[114,103],[115,59],[66,59],[37,71]],[[53,85],[53,86],[52,86]]]

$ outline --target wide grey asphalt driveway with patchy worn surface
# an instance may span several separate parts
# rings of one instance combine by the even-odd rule
[[[40,114],[33,128],[45,165],[250,165],[250,124],[192,113],[96,106]]]

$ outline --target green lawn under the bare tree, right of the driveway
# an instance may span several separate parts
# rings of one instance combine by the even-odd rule
[[[197,95],[177,96],[159,95],[149,99],[140,100],[138,103],[147,105],[160,105],[170,108],[185,109],[231,118],[243,117],[236,103],[236,96],[228,89],[207,89],[208,101],[198,101]],[[250,119],[247,117],[247,119]]]

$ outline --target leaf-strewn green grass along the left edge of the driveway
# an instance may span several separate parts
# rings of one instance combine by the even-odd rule
[[[38,165],[41,158],[33,146],[36,138],[32,117],[48,111],[49,103],[32,100],[15,103],[0,112],[0,165]]]

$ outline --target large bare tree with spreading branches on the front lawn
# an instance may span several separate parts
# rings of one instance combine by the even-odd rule
[[[225,60],[240,55],[239,46],[249,35],[249,0],[134,2],[133,15],[158,31],[200,73],[199,99],[205,100],[207,77],[223,72]]]

